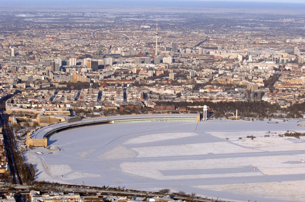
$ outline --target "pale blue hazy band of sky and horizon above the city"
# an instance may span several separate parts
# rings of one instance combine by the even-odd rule
[[[0,12],[210,12],[303,15],[305,0],[0,0]],[[269,12],[271,13],[271,12]]]

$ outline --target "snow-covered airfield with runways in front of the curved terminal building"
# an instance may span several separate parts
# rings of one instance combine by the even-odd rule
[[[305,201],[305,138],[278,136],[287,130],[305,132],[305,127],[297,126],[300,120],[267,121],[79,127],[48,138],[48,145],[60,151],[34,148],[25,156],[40,181],[168,188],[246,201]],[[246,138],[251,135],[256,138]]]

